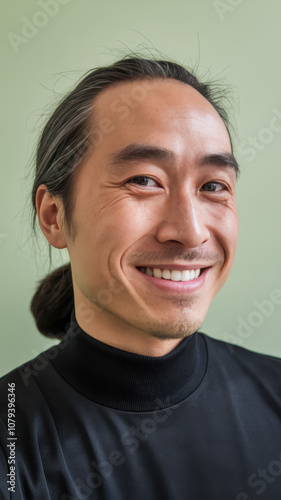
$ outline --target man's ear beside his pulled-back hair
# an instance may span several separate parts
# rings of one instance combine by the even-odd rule
[[[40,228],[48,242],[55,248],[66,248],[63,203],[61,198],[49,193],[45,184],[37,189],[36,211]]]

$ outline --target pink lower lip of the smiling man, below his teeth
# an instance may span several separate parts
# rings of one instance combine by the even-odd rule
[[[157,288],[160,288],[160,290],[166,290],[167,292],[192,293],[196,292],[204,285],[210,269],[210,267],[207,267],[202,271],[198,278],[190,281],[171,281],[164,278],[154,278],[154,276],[149,276],[149,274],[143,273],[139,269],[137,269],[137,271],[142,274],[144,279],[146,279],[149,284],[155,285]]]

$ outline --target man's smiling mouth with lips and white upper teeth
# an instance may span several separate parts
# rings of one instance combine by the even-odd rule
[[[211,267],[160,269],[139,266],[136,269],[150,285],[155,285],[164,291],[195,292],[205,283]]]

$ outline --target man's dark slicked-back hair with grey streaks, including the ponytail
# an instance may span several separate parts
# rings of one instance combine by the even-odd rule
[[[200,82],[191,71],[175,62],[129,55],[110,66],[90,71],[60,102],[39,139],[32,188],[34,230],[36,192],[40,184],[45,184],[50,194],[61,197],[67,233],[70,237],[75,236],[72,225],[75,175],[82,161],[97,144],[92,125],[97,96],[120,82],[159,78],[178,80],[196,89],[216,109],[231,141],[229,119],[221,104],[225,89],[221,91],[217,84]],[[62,338],[73,306],[71,267],[67,264],[40,282],[30,307],[37,328],[43,335]]]

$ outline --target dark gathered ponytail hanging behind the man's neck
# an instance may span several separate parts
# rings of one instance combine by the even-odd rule
[[[59,267],[40,281],[30,310],[38,330],[50,338],[62,339],[70,321],[74,294],[70,264]]]

